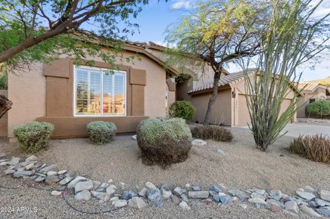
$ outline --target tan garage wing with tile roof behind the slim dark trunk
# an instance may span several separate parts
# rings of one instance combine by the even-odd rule
[[[250,70],[250,73],[254,73]],[[197,109],[195,121],[202,123],[208,108],[208,102],[212,93],[213,83],[204,83],[201,86],[190,87],[184,84],[177,84],[177,99],[188,100],[192,102]],[[287,106],[298,93],[296,87],[291,86],[290,91],[285,98],[281,112],[285,111]],[[292,117],[292,122],[296,122],[296,115]],[[210,116],[211,124],[221,124],[225,126],[247,126],[250,123],[250,115],[245,98],[245,78],[243,72],[228,73],[221,76],[219,81],[219,92]]]

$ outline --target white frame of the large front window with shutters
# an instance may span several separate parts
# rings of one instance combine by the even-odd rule
[[[91,70],[98,70],[98,71],[102,71],[101,73],[101,114],[100,115],[76,115],[76,70],[77,69],[86,69],[87,71],[91,71]],[[114,71],[115,73],[124,73],[124,92],[125,92],[125,112],[124,115],[103,115],[103,75],[104,72],[103,71]],[[115,75],[114,73],[114,75]],[[88,74],[88,78],[89,78]],[[126,117],[127,116],[127,82],[126,79],[127,78],[127,72],[126,71],[118,71],[118,70],[114,70],[114,69],[104,69],[104,68],[98,68],[98,67],[89,67],[89,66],[84,66],[84,65],[80,65],[79,67],[74,65],[74,117]],[[89,86],[89,85],[88,85]],[[114,87],[113,87],[114,89]],[[88,93],[89,95],[89,93]]]

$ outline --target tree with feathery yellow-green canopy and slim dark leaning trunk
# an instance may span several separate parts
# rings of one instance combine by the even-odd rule
[[[212,95],[203,124],[210,123],[212,106],[217,99],[219,80],[225,67],[240,58],[259,54],[260,33],[267,20],[263,3],[255,0],[201,1],[179,23],[168,27],[167,63],[177,69],[209,65],[214,71]]]

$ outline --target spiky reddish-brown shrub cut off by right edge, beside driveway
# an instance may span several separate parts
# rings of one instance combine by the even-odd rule
[[[330,163],[330,138],[322,135],[299,136],[289,146],[294,154],[300,154],[318,162]]]

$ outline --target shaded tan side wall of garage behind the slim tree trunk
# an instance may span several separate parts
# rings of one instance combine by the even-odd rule
[[[231,109],[231,90],[225,89],[218,92],[217,100],[214,102],[212,113],[210,115],[210,124],[220,124],[230,126],[232,123],[232,109]],[[210,100],[210,93],[201,93],[192,95],[192,105],[196,108],[196,115],[194,121],[203,122],[208,108],[208,101]]]

